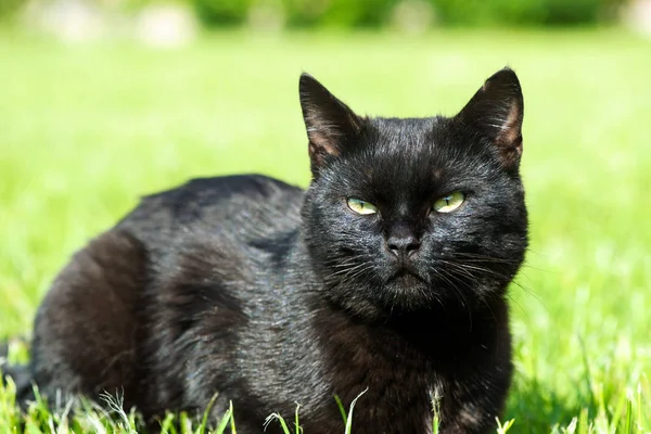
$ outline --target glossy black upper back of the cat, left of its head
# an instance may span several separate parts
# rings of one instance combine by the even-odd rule
[[[241,243],[297,228],[303,190],[261,175],[196,178],[142,197],[116,226],[150,251],[192,234],[221,234]]]

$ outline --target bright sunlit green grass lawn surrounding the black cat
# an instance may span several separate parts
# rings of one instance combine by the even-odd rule
[[[2,33],[0,337],[29,333],[68,255],[138,195],[230,173],[305,186],[302,71],[359,112],[425,116],[505,64],[525,93],[532,233],[505,420],[651,432],[651,41],[617,31],[217,34],[171,51]]]

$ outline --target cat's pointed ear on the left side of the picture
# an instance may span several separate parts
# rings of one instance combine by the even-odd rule
[[[298,91],[316,177],[329,156],[341,155],[359,140],[362,119],[309,74],[301,75]]]

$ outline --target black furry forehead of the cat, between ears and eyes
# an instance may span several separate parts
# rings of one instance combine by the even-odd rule
[[[426,195],[481,181],[477,167],[485,165],[486,153],[449,124],[441,117],[372,119],[335,178],[372,196]]]

